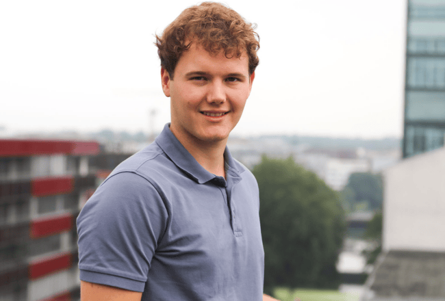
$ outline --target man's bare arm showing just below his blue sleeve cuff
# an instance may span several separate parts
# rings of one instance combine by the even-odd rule
[[[117,287],[80,282],[81,301],[140,301],[142,293]]]

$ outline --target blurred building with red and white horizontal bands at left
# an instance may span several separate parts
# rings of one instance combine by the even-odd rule
[[[0,300],[79,300],[75,219],[97,142],[0,140]]]

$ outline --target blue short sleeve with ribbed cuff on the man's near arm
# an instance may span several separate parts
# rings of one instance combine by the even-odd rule
[[[81,280],[144,291],[168,212],[155,187],[133,172],[110,176],[77,218]]]

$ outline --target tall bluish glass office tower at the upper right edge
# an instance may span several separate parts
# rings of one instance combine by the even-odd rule
[[[444,145],[445,0],[409,0],[403,157]]]

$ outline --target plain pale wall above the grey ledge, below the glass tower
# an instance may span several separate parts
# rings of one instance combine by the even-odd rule
[[[445,149],[385,171],[383,250],[445,252]]]

